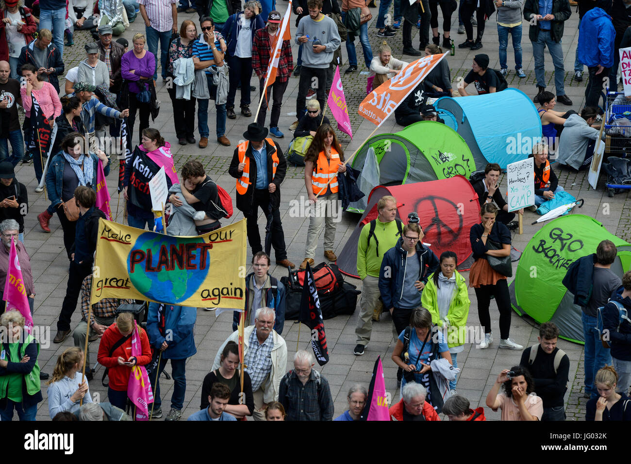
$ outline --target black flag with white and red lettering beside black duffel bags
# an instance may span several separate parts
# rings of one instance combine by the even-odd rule
[[[300,299],[300,322],[306,324],[311,330],[311,347],[314,350],[315,359],[317,359],[317,364],[324,366],[329,362],[329,349],[326,346],[320,299],[309,263],[305,270],[305,283],[302,286],[302,299]]]

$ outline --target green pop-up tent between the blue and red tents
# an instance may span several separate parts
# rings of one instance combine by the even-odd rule
[[[371,147],[379,164],[379,182],[376,185],[413,184],[447,179],[458,174],[469,177],[476,170],[475,160],[464,139],[441,122],[415,122],[396,134],[379,134],[369,138],[351,162],[355,169],[363,171]],[[369,165],[370,162],[369,159]],[[374,174],[374,169],[370,171],[362,172],[362,175]],[[370,191],[364,193],[368,198]],[[363,213],[357,206],[349,210]]]

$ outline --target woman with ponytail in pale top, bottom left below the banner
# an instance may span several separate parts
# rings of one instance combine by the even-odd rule
[[[81,400],[91,403],[88,380],[83,377],[83,351],[68,348],[57,358],[52,378],[48,382],[48,412],[50,419],[57,413],[78,410]]]

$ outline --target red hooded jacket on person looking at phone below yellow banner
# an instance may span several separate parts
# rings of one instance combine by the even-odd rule
[[[151,362],[151,346],[149,338],[142,327],[138,327],[140,335],[140,345],[143,348],[143,354],[136,357],[138,366],[145,366]],[[118,364],[118,357],[121,356],[127,360],[131,356],[131,337],[125,343],[114,350],[110,357],[110,349],[119,339],[122,338],[121,331],[118,330],[116,323],[112,324],[105,330],[101,337],[101,343],[98,345],[98,364],[109,367],[108,376],[110,378],[110,387],[112,390],[127,391],[127,383],[129,383],[129,375],[131,374],[131,366],[121,366]]]

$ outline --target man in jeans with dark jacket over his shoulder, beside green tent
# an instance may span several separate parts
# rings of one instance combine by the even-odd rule
[[[598,396],[594,377],[599,369],[611,364],[609,348],[603,346],[598,330],[598,309],[622,285],[620,277],[611,271],[618,251],[610,240],[603,240],[596,253],[583,256],[570,265],[563,285],[574,294],[574,304],[581,306],[585,338],[585,398]]]

